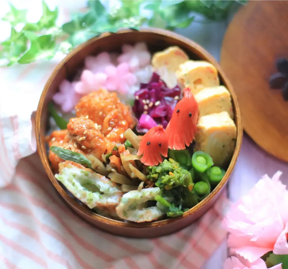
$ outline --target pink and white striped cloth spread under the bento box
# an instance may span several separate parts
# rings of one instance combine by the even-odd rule
[[[58,196],[35,153],[33,112],[63,57],[0,69],[0,269],[202,268],[226,239],[226,192],[191,226],[156,239],[99,231]]]

